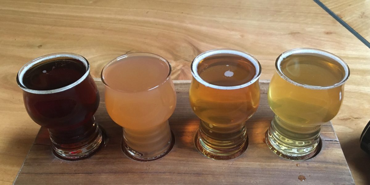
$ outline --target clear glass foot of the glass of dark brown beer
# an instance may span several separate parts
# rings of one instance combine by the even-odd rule
[[[97,124],[95,122],[95,124]],[[85,159],[91,157],[91,155],[95,154],[101,147],[105,146],[107,141],[107,136],[105,131],[97,125],[96,127],[97,136],[94,140],[92,140],[89,144],[84,145],[83,147],[73,148],[73,149],[60,149],[52,145],[53,154],[60,158],[67,161],[76,161],[80,159]]]

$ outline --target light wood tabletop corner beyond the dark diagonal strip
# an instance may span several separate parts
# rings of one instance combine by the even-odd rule
[[[320,1],[367,41],[370,41],[370,0]]]

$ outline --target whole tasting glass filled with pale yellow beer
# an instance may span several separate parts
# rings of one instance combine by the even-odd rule
[[[280,157],[309,159],[317,152],[320,125],[339,111],[349,68],[336,55],[311,48],[282,53],[275,67],[268,90],[275,117],[266,143]]]

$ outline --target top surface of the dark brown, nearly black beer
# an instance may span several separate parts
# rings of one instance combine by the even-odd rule
[[[85,65],[77,59],[50,61],[27,70],[23,84],[33,90],[54,90],[74,83],[85,72]]]

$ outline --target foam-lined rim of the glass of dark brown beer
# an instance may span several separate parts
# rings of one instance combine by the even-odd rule
[[[82,75],[82,77],[79,78],[78,80],[76,80],[74,83],[71,83],[71,84],[66,85],[64,87],[61,87],[61,88],[52,89],[52,90],[34,90],[34,89],[30,89],[30,88],[26,87],[23,84],[24,74],[31,67],[33,67],[33,66],[35,66],[35,65],[37,65],[41,62],[44,62],[46,60],[54,61],[54,60],[61,60],[61,59],[68,59],[68,58],[73,58],[73,59],[79,60],[85,65],[85,70],[86,71],[85,71],[84,75]],[[35,59],[29,61],[28,63],[24,64],[21,67],[21,69],[18,71],[17,84],[22,90],[24,90],[26,92],[30,92],[32,94],[54,94],[54,93],[62,92],[62,91],[68,90],[72,87],[75,87],[76,85],[78,85],[82,81],[84,81],[89,74],[90,74],[90,64],[88,63],[88,61],[85,57],[83,57],[81,55],[78,55],[78,54],[74,54],[74,53],[52,53],[52,54],[47,54],[47,55],[43,55],[41,57],[35,58]]]

